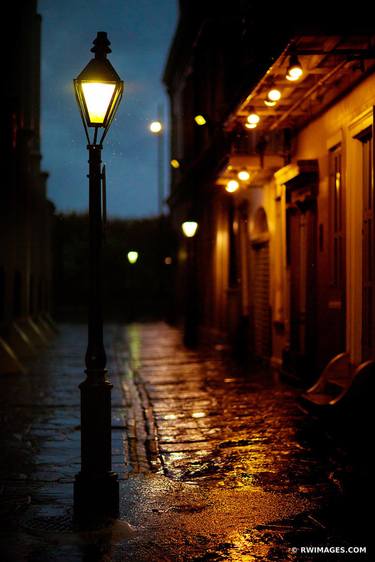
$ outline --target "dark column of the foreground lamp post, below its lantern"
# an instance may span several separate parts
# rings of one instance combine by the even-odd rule
[[[81,391],[81,472],[74,484],[78,519],[117,517],[119,484],[112,472],[111,389],[103,344],[101,294],[101,150],[89,150],[89,318],[85,357],[86,379]]]

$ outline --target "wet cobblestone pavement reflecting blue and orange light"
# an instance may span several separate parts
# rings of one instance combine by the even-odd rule
[[[220,346],[189,351],[164,324],[106,340],[121,517],[72,526],[86,329],[65,324],[28,375],[0,378],[1,561],[371,559],[301,552],[370,545],[348,453],[297,390]]]

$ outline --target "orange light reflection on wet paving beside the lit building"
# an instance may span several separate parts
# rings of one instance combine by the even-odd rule
[[[215,350],[187,352],[172,334],[156,340],[152,328],[133,327],[128,336],[130,351],[141,338],[135,368],[153,405],[164,473],[281,492],[311,484],[310,468],[318,467],[297,439],[304,414],[296,391],[266,369],[242,373]]]

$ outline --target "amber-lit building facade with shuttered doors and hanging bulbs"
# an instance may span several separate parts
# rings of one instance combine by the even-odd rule
[[[199,222],[199,334],[309,384],[342,352],[353,365],[375,354],[375,36],[280,12],[261,37],[259,10],[194,19],[181,4],[165,71],[170,205],[176,228],[191,209]]]

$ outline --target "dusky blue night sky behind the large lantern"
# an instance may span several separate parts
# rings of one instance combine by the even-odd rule
[[[108,214],[157,214],[158,138],[148,126],[157,118],[160,104],[165,118],[169,114],[161,76],[177,24],[177,4],[177,0],[39,0],[42,167],[50,173],[48,197],[58,211],[88,207],[88,155],[72,80],[93,56],[90,49],[97,31],[106,31],[112,49],[109,59],[125,83],[102,155]],[[165,153],[169,162],[167,146]],[[167,172],[168,167],[166,163]]]

